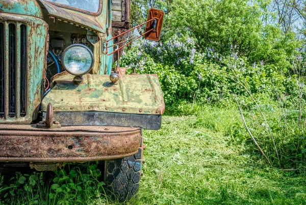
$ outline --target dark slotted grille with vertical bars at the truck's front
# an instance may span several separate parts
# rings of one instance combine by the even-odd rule
[[[0,23],[0,118],[26,113],[27,26]]]

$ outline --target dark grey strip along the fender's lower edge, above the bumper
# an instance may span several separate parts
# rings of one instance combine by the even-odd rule
[[[46,112],[43,112],[43,115],[43,119],[45,119]],[[53,120],[60,122],[61,126],[123,126],[158,130],[161,128],[162,115],[99,111],[54,112]]]

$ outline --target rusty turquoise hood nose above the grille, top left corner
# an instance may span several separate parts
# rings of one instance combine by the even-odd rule
[[[42,18],[40,6],[35,0],[2,0],[0,2],[0,12]]]

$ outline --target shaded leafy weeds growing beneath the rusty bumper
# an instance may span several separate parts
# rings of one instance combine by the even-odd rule
[[[0,204],[89,204],[104,198],[104,182],[97,164],[64,166],[69,166],[68,172],[67,167],[58,169],[51,179],[46,172],[16,172],[11,184],[0,188]]]

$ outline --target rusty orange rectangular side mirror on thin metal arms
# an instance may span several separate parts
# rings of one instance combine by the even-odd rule
[[[156,19],[156,21],[150,21],[151,19]],[[148,32],[152,28],[154,28],[154,30],[149,33],[146,33],[144,35],[144,38],[146,40],[159,41],[161,38],[161,32],[163,27],[164,11],[160,9],[150,8],[147,21],[150,22],[147,23],[145,32]]]

